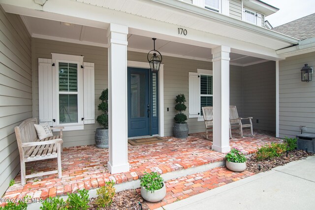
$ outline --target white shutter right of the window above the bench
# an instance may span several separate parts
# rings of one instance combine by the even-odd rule
[[[83,62],[84,124],[95,123],[94,63]]]

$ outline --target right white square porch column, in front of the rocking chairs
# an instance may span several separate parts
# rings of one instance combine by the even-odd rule
[[[212,150],[230,151],[230,47],[219,46],[213,54],[213,145]]]

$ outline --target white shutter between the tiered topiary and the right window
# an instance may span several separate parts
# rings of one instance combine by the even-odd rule
[[[200,116],[200,78],[198,73],[189,72],[189,118]]]

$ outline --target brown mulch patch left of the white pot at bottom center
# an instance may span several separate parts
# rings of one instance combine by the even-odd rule
[[[99,210],[141,210],[139,202],[142,205],[142,210],[148,210],[148,206],[143,203],[144,200],[138,191],[138,189],[128,189],[116,192],[113,203],[109,207],[99,208]],[[94,201],[94,198],[90,199],[89,210],[98,210]]]

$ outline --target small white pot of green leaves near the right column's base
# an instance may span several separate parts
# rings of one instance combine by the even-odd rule
[[[246,157],[240,150],[232,148],[229,153],[225,155],[226,168],[231,171],[241,172],[246,169]]]

